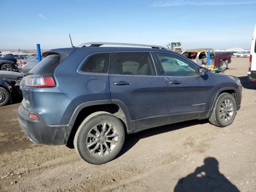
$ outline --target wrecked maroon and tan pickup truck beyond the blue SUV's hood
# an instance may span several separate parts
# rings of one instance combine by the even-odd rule
[[[212,70],[226,70],[228,64],[231,62],[231,53],[220,53],[216,54],[213,49],[209,48],[200,48],[200,49],[191,49],[182,53],[183,56],[189,58],[196,64],[203,66],[208,62],[208,50],[210,50],[210,60],[212,63]]]

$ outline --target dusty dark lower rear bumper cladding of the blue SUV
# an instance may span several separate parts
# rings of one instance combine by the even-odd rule
[[[32,142],[46,145],[64,145],[68,142],[72,128],[70,125],[49,125],[39,114],[38,120],[28,115],[28,110],[22,106],[18,108],[20,127]]]

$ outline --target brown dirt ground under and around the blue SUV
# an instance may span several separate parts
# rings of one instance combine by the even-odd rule
[[[232,125],[192,120],[126,137],[121,154],[103,165],[66,146],[33,144],[19,127],[20,103],[0,108],[0,191],[256,191],[256,83],[248,58],[232,58],[242,107]]]

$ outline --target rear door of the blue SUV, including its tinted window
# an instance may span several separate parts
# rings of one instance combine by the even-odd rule
[[[167,124],[168,86],[166,77],[158,75],[152,54],[115,52],[110,63],[111,101],[128,110],[134,127]]]

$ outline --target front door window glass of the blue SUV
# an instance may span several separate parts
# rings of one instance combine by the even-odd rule
[[[166,76],[196,76],[198,70],[192,63],[185,59],[167,53],[156,53]]]

